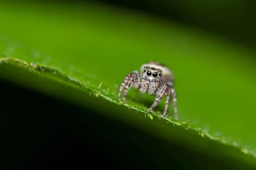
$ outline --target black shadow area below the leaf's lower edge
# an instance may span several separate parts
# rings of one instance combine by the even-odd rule
[[[241,168],[3,80],[0,89],[0,169]]]

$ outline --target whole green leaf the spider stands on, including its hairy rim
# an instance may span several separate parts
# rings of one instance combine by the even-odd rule
[[[212,164],[218,162],[215,166],[256,167],[256,154],[253,150],[242,147],[234,140],[211,135],[209,130],[203,130],[189,121],[183,121],[193,119],[193,115],[202,118],[212,113],[220,119],[224,110],[227,111],[227,118],[224,116],[226,121],[221,122],[225,123],[219,124],[217,119],[209,116],[201,120],[216,125],[223,133],[228,132],[230,122],[239,122],[239,119],[243,122],[241,118],[230,121],[234,110],[240,113],[241,108],[229,106],[230,102],[236,101],[227,101],[222,108],[218,108],[223,109],[218,110],[220,113],[216,113],[214,107],[223,102],[223,99],[219,99],[220,93],[224,97],[240,95],[241,92],[231,84],[243,89],[247,87],[245,91],[250,91],[253,99],[256,91],[250,85],[255,80],[248,80],[243,75],[240,75],[239,82],[234,78],[234,75],[239,76],[237,63],[251,68],[243,74],[253,75],[255,68],[252,67],[253,62],[250,62],[253,52],[230,47],[227,42],[163,20],[144,18],[120,9],[108,10],[107,7],[95,4],[78,6],[28,3],[22,9],[20,6],[22,4],[6,2],[0,10],[0,16],[6,16],[0,23],[1,79],[58,100],[64,99],[139,129],[159,141],[167,142],[161,150],[163,152],[165,150],[179,155],[179,150],[172,153],[171,146],[175,145],[185,150],[184,155],[197,153],[195,158],[202,165],[212,160]],[[23,12],[25,8],[30,10]],[[49,9],[47,13],[45,8]],[[169,116],[161,116],[164,102],[147,115],[148,105],[154,97],[145,95],[138,100],[134,89],[129,91],[125,105],[116,98],[118,86],[125,75],[148,60],[158,60],[172,66],[177,81],[175,89],[180,120],[172,118],[172,107]],[[230,66],[228,70],[227,65]],[[219,83],[221,87],[215,89]],[[227,88],[230,91],[225,93]],[[236,94],[233,94],[235,90]],[[194,107],[196,104],[197,107]],[[253,109],[249,112],[253,112]],[[236,127],[230,125],[230,128],[236,131]],[[244,125],[243,128],[245,131],[250,126]],[[236,138],[235,133],[230,133],[232,135]],[[142,137],[137,136],[137,139],[140,141]],[[253,143],[253,140],[248,141]],[[146,146],[148,150],[156,147],[149,144]],[[203,160],[204,156],[207,160]],[[177,156],[177,159],[181,160],[182,156]],[[231,160],[232,164],[225,159]],[[189,158],[184,160],[189,161]]]

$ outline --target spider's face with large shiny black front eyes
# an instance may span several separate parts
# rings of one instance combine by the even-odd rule
[[[142,77],[145,77],[146,79],[149,80],[159,80],[162,77],[162,70],[159,68],[154,68],[154,67],[148,67],[145,66],[143,67],[141,71]]]

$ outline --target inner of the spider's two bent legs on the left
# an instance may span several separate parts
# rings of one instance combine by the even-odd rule
[[[125,90],[123,94],[123,103],[125,103],[125,98],[127,96],[127,93],[129,89],[131,88],[131,85],[134,86],[134,88],[139,89],[140,88],[140,83],[138,82],[138,72],[133,71],[130,76],[128,77],[127,82],[125,83]]]

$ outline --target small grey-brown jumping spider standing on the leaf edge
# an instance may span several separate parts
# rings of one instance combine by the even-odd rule
[[[159,62],[148,62],[141,66],[140,75],[138,71],[132,71],[128,74],[119,88],[119,94],[117,98],[120,98],[122,89],[125,87],[123,94],[123,103],[125,103],[125,98],[131,85],[137,90],[140,90],[142,94],[148,92],[149,95],[156,95],[156,99],[151,107],[148,109],[147,113],[150,113],[157,104],[163,99],[163,96],[167,94],[166,105],[164,108],[163,116],[166,116],[166,112],[169,107],[170,96],[173,94],[173,106],[174,114],[177,117],[177,94],[173,88],[174,77],[172,70],[167,66]]]

